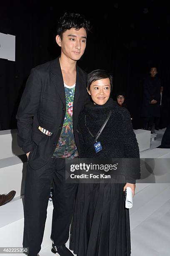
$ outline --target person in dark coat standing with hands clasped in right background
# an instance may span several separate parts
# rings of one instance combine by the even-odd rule
[[[160,89],[161,82],[157,77],[157,68],[150,69],[148,76],[143,83],[143,102],[140,116],[143,118],[143,129],[151,131],[154,118],[160,117]]]

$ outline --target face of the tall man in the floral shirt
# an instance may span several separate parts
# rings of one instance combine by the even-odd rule
[[[85,28],[76,30],[75,28],[67,29],[62,34],[62,40],[59,35],[56,36],[56,41],[61,46],[61,54],[64,54],[68,59],[77,61],[81,58],[86,47],[87,33]]]

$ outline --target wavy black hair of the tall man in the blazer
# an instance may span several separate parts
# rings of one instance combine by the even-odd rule
[[[85,28],[86,33],[90,31],[90,22],[78,13],[65,13],[58,21],[57,35],[62,39],[62,33],[67,29],[75,28],[79,30],[80,28]]]

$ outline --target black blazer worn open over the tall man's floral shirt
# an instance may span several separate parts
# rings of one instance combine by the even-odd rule
[[[73,131],[78,151],[78,117],[89,100],[86,79],[87,74],[76,65]],[[64,82],[58,57],[31,70],[16,115],[18,144],[25,153],[30,152],[28,161],[32,169],[39,169],[50,160],[60,137],[65,111]],[[39,125],[52,135],[38,130]]]

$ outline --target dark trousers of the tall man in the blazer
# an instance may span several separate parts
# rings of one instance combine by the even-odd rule
[[[54,207],[51,239],[55,244],[63,245],[69,238],[77,184],[65,182],[65,161],[67,160],[50,159],[45,166],[37,170],[31,169],[28,163],[23,247],[29,247],[29,254],[36,254],[41,249],[51,182]]]

